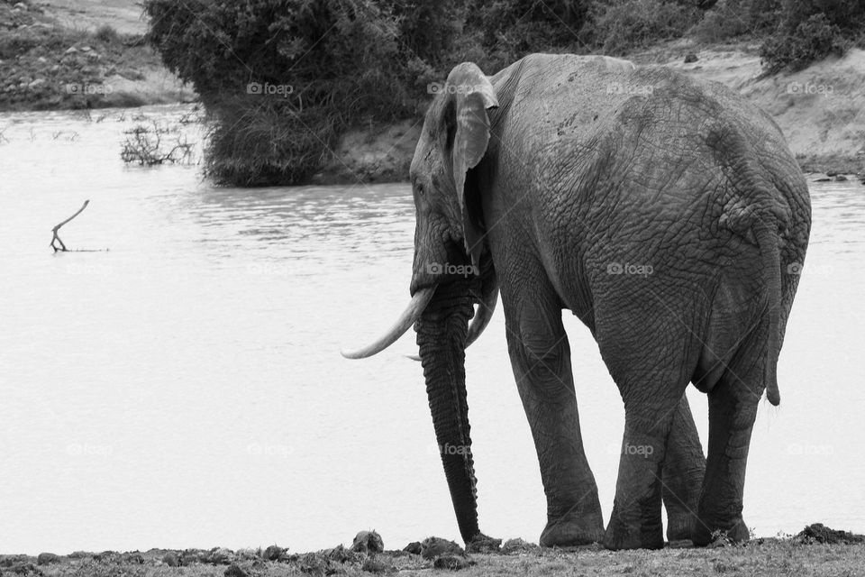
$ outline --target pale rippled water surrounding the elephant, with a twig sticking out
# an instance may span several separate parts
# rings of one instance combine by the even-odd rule
[[[136,123],[119,114],[0,115],[0,552],[459,539],[402,356],[414,335],[367,361],[338,353],[407,301],[408,187],[214,188],[197,167],[125,168]],[[751,444],[760,536],[865,531],[865,188],[812,195],[783,402],[763,401]],[[53,254],[51,226],[86,198],[61,237],[108,250]],[[587,330],[566,325],[608,517],[624,411]],[[468,356],[481,528],[536,541],[545,504],[500,311]],[[706,398],[689,397],[705,445]]]

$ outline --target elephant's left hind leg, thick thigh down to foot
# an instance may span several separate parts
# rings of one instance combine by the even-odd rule
[[[683,404],[698,358],[693,334],[680,320],[683,314],[687,317],[689,307],[668,305],[653,296],[633,298],[635,293],[624,293],[631,296],[629,301],[610,291],[608,299],[596,303],[598,346],[624,401],[622,453],[604,537],[609,549],[660,549],[665,494],[669,504],[694,500],[693,489],[687,488],[694,465],[679,463],[683,457],[696,456],[689,454],[694,447],[684,450],[686,439],[691,444],[697,438],[687,400]],[[673,520],[687,524],[675,505],[673,510]]]

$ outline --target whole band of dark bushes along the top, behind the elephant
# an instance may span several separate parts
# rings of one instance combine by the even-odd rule
[[[532,51],[624,55],[690,33],[763,39],[769,71],[841,53],[865,24],[843,0],[145,0],[149,39],[201,96],[206,171],[296,184],[352,127],[418,117],[430,85],[472,60]]]

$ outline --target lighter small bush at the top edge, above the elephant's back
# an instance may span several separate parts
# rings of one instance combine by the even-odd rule
[[[701,15],[688,4],[606,0],[593,6],[589,38],[605,54],[623,55],[653,41],[681,37]]]

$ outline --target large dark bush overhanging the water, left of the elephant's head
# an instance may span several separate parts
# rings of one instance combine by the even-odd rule
[[[150,41],[205,105],[219,182],[302,182],[351,125],[415,112],[396,20],[372,0],[144,6]]]

